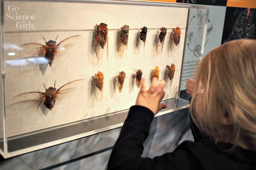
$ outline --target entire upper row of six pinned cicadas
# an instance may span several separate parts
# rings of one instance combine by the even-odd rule
[[[100,23],[98,26],[96,24],[96,43],[95,43],[95,51],[96,56],[98,59],[102,58],[102,55],[104,54],[104,47],[106,44],[108,44],[108,25],[105,23]],[[145,43],[146,36],[147,36],[147,27],[141,28],[140,34],[137,37],[137,49],[141,47],[143,42]],[[160,28],[160,34],[157,38],[156,43],[156,53],[160,54],[160,52],[163,49],[164,40],[167,33],[167,28]],[[174,33],[172,34],[172,42],[177,46],[180,43],[180,35],[181,30],[179,27],[173,28]],[[44,38],[44,37],[43,37]],[[58,36],[54,40],[49,40],[48,42],[44,39],[46,45],[42,45],[39,43],[26,43],[21,45],[21,47],[24,49],[25,52],[35,56],[38,55],[38,57],[44,57],[45,62],[49,63],[49,65],[52,65],[52,62],[55,58],[55,55],[62,55],[65,52],[67,52],[68,48],[71,48],[80,38],[80,35],[75,35],[72,37],[68,37],[61,42],[57,44]],[[120,34],[119,34],[119,40],[118,40],[118,53],[120,56],[122,56],[123,52],[125,51],[125,48],[127,48],[128,45],[128,38],[129,38],[129,26],[124,25],[121,28]],[[108,48],[108,47],[107,47]],[[25,59],[31,59],[31,57],[27,57]],[[11,63],[12,65],[12,63]],[[15,65],[15,64],[13,64]]]

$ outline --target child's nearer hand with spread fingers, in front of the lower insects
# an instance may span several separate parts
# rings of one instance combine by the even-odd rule
[[[164,97],[163,88],[166,82],[161,79],[159,85],[157,85],[157,78],[153,78],[151,86],[146,90],[146,80],[142,79],[140,92],[137,96],[136,105],[144,106],[150,109],[154,115],[157,114],[163,108],[166,108],[166,104],[160,104],[160,101]]]

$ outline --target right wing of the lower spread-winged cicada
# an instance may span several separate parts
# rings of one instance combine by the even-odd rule
[[[77,79],[72,82],[68,82],[65,85],[62,85],[56,91],[56,99],[62,99],[64,97],[66,97],[67,95],[72,94],[74,91],[76,91],[76,89],[81,87],[83,82],[84,82],[84,79]]]

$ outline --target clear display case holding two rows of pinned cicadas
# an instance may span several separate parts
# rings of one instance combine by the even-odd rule
[[[189,107],[180,85],[191,12],[141,1],[1,3],[0,153],[32,152],[121,127],[141,79],[166,80],[168,107]],[[202,45],[203,46],[203,45]],[[202,53],[200,49],[198,53]]]

